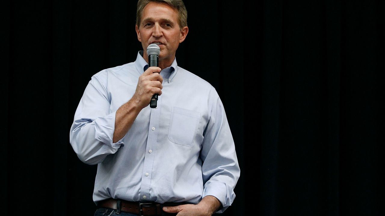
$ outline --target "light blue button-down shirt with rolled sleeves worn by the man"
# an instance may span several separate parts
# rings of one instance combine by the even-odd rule
[[[233,137],[218,93],[208,82],[177,66],[161,71],[157,108],[147,106],[127,134],[112,143],[116,110],[134,95],[148,68],[135,62],[92,76],[77,107],[70,143],[81,161],[98,164],[93,199],[233,203],[240,170]]]

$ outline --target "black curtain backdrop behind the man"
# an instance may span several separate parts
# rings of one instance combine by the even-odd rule
[[[217,89],[241,166],[222,215],[385,215],[385,3],[185,4],[178,65]],[[91,76],[142,49],[136,1],[0,8],[3,213],[93,215],[97,166],[75,155],[70,125]]]

